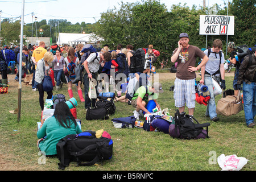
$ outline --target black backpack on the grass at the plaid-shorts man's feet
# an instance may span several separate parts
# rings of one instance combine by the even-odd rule
[[[179,130],[179,136],[177,138],[183,139],[196,139],[200,134],[206,135],[208,137],[208,126],[210,123],[200,124],[192,115],[179,113],[179,110],[175,113],[175,133]],[[192,119],[195,122],[192,121]],[[203,133],[203,127],[207,127],[207,134]]]

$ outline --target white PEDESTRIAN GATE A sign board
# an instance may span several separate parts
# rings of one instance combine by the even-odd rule
[[[234,16],[200,15],[200,35],[234,35]]]

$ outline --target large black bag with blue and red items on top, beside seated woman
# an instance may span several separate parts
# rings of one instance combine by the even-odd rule
[[[77,166],[92,166],[112,158],[113,140],[105,131],[100,136],[94,131],[84,131],[60,139],[56,150],[59,169],[65,169],[70,162],[77,162]]]

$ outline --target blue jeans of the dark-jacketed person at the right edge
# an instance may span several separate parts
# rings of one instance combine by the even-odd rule
[[[245,110],[245,122],[248,126],[254,122],[256,114],[256,83],[246,84],[243,81],[243,106]]]

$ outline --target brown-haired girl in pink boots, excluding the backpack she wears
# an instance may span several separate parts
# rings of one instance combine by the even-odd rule
[[[72,66],[77,66],[80,64],[79,58],[75,56],[75,49],[73,47],[68,49],[68,56],[65,57],[65,66],[63,68],[63,70],[67,69],[67,67],[69,67],[70,65]],[[68,82],[68,94],[69,97],[72,98],[73,97],[73,90],[72,90],[72,81],[68,76],[65,76],[67,82]],[[84,97],[82,96],[82,89],[80,86],[80,82],[78,82],[76,84],[76,88],[77,88],[77,93],[79,94],[79,98],[81,102],[84,102]]]

